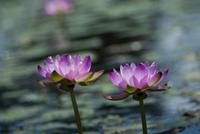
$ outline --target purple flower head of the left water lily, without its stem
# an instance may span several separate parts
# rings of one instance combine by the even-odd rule
[[[91,72],[92,60],[90,56],[81,59],[80,55],[57,55],[49,56],[43,66],[38,66],[38,72],[48,80],[58,82],[66,79],[71,83],[79,83],[84,85],[95,81],[103,70]]]

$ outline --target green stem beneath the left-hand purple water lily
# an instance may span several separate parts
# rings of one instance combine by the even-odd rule
[[[76,119],[76,123],[77,123],[77,127],[78,127],[78,133],[83,134],[83,127],[81,124],[81,118],[80,118],[74,90],[72,89],[69,92],[70,92],[71,101],[72,101],[72,105],[73,105],[73,109],[74,109],[74,115],[75,115],[75,119]]]

